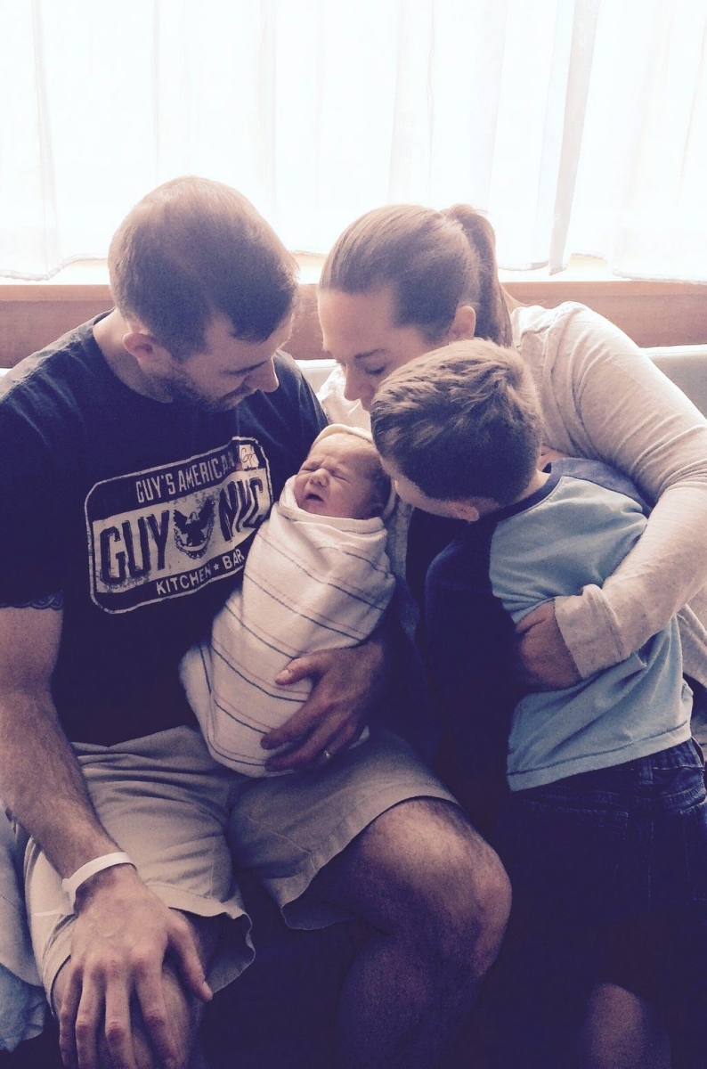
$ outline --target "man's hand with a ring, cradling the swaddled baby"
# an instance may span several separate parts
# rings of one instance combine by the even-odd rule
[[[292,747],[270,758],[269,772],[311,768],[325,749],[334,755],[356,742],[383,692],[382,639],[377,636],[363,646],[298,657],[276,682],[287,686],[305,677],[314,680],[314,687],[304,704],[263,739],[266,749]]]

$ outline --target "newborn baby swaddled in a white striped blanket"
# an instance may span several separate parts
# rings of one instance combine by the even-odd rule
[[[211,756],[268,775],[261,739],[299,709],[304,679],[279,687],[295,657],[357,646],[378,625],[395,580],[381,518],[390,480],[365,431],[332,424],[258,528],[242,587],[210,638],[183,657],[180,678]]]

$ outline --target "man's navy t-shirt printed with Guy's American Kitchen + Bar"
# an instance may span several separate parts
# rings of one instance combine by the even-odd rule
[[[326,419],[294,361],[208,413],[128,389],[84,324],[0,385],[0,604],[63,594],[53,696],[69,739],[194,723],[177,680]]]

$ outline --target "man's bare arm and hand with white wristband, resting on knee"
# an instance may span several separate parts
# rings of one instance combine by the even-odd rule
[[[0,778],[3,801],[65,878],[120,846],[98,820],[53,707],[61,624],[58,603],[0,607]],[[168,949],[186,986],[201,998],[210,996],[189,926],[130,866],[92,877],[79,888],[75,911],[60,1011],[66,1064],[78,1055],[81,1067],[95,1066],[97,1032],[105,1027],[115,1064],[132,1065],[133,997],[156,1054],[178,1064],[184,1054],[174,1049],[162,989]]]

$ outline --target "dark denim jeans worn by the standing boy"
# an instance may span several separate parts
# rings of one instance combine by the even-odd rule
[[[587,996],[623,946],[640,952],[642,993],[662,1016],[674,1069],[704,1069],[707,797],[700,748],[690,741],[519,791],[493,845],[514,900],[480,1003],[477,1064],[576,1066]]]

